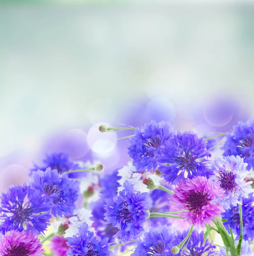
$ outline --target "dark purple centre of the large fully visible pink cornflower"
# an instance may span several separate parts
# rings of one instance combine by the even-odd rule
[[[192,191],[186,198],[186,205],[190,212],[199,213],[203,206],[207,205],[211,198],[202,191]]]

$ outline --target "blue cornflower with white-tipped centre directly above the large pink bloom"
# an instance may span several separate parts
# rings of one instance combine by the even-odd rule
[[[211,154],[205,146],[203,138],[198,138],[192,131],[175,134],[171,140],[166,141],[161,149],[158,168],[165,180],[177,184],[194,176],[212,174],[208,169],[209,161],[205,157]]]

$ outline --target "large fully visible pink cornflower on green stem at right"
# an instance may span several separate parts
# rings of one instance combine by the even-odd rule
[[[184,221],[194,224],[196,227],[204,227],[212,224],[212,220],[225,212],[220,206],[220,198],[223,197],[223,189],[215,181],[211,183],[206,177],[193,177],[187,181],[181,181],[174,189],[171,201],[174,206],[183,210],[180,215]]]

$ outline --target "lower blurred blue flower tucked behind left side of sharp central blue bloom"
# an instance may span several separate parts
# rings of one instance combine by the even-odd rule
[[[92,204],[92,215],[91,218],[93,222],[92,227],[95,229],[95,233],[97,236],[100,236],[101,239],[109,238],[108,242],[113,242],[114,235],[118,232],[117,227],[113,227],[112,223],[106,224],[106,221],[104,219],[104,214],[106,212],[106,209],[104,208],[104,202],[103,200],[99,200]]]

